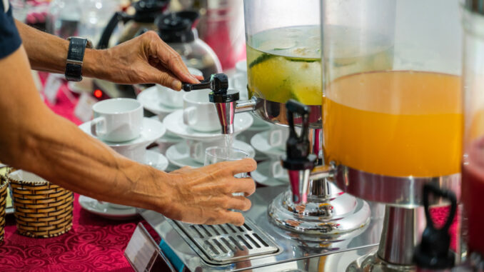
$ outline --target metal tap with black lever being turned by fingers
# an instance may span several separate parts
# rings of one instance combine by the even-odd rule
[[[235,114],[256,109],[256,99],[238,101],[238,91],[228,89],[228,77],[226,74],[213,74],[200,84],[183,84],[183,91],[201,89],[212,90],[209,94],[209,99],[215,104],[218,121],[220,121],[222,126],[222,134],[233,134]]]

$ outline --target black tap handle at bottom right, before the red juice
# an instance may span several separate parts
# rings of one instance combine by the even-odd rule
[[[450,211],[447,220],[442,228],[435,228],[432,217],[430,217],[430,194],[447,198],[450,201]],[[423,186],[423,206],[425,208],[425,218],[427,226],[422,234],[420,245],[415,248],[414,260],[419,268],[445,269],[454,264],[453,253],[450,252],[449,228],[452,225],[457,211],[457,198],[455,193],[443,190],[433,183]]]

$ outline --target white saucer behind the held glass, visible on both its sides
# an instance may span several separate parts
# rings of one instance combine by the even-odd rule
[[[256,151],[253,150],[252,146],[243,141],[233,141],[233,147],[246,151],[251,158],[256,154]],[[199,163],[190,157],[190,149],[184,142],[170,146],[168,150],[166,150],[166,158],[168,158],[168,161],[170,161],[173,166],[178,166],[180,168],[184,166],[191,166],[193,168],[203,166],[203,163]]]

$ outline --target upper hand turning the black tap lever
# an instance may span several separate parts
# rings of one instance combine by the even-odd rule
[[[197,84],[202,79],[191,75],[181,56],[154,31],[99,50],[97,56],[101,65],[96,78],[119,84],[161,84],[178,91],[182,82]]]

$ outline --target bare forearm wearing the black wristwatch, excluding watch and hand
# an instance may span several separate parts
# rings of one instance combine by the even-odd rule
[[[64,74],[69,41],[34,29],[20,21],[15,21],[15,24],[19,29],[31,68],[38,71]],[[83,76],[95,77],[102,74],[103,63],[104,58],[101,51],[86,49],[82,67]]]

